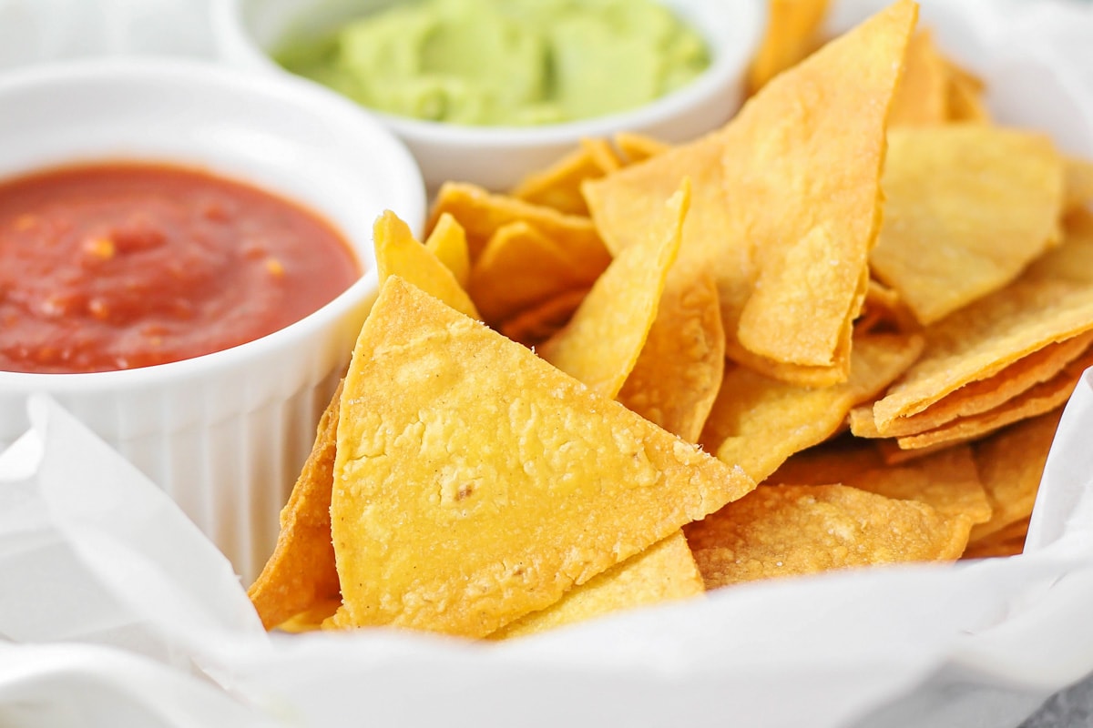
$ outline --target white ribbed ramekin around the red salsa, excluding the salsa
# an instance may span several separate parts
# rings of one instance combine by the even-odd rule
[[[366,274],[258,341],[144,369],[0,372],[0,450],[51,395],[169,493],[249,580],[272,551],[299,473],[375,295],[372,224],[419,231],[420,172],[404,146],[332,92],[192,61],[101,61],[0,77],[0,178],[96,160],[162,160],[252,183],[318,212]]]

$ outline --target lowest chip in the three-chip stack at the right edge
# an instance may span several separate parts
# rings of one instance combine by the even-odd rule
[[[967,442],[1007,425],[1043,415],[1066,404],[1078,385],[1082,372],[1091,366],[1093,366],[1093,351],[1088,351],[1051,379],[1022,392],[994,409],[961,417],[926,432],[896,438],[896,443],[904,450],[914,450],[942,442]]]

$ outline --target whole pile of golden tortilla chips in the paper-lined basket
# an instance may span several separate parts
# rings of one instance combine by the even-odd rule
[[[812,4],[720,130],[448,183],[424,241],[377,220],[268,628],[507,639],[1021,551],[1093,363],[1093,168],[991,123],[912,0],[800,60]]]

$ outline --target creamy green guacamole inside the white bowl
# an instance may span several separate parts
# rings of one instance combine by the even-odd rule
[[[492,126],[633,108],[709,64],[702,38],[650,0],[415,0],[274,58],[374,109]]]

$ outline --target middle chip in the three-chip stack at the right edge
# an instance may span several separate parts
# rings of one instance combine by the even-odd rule
[[[855,410],[851,413],[850,429],[862,438],[906,437],[936,429],[961,417],[989,411],[1034,385],[1051,380],[1062,372],[1067,365],[1082,356],[1091,344],[1093,344],[1093,332],[1048,344],[1038,351],[1018,359],[994,377],[968,382],[917,415],[901,417],[883,430],[877,428],[872,421],[872,408]],[[867,426],[861,420],[855,429],[854,423],[858,417],[870,420],[869,434],[866,433]]]

